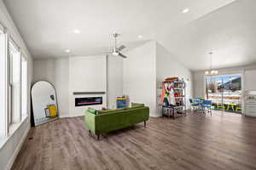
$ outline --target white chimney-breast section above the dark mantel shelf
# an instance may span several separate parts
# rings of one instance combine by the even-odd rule
[[[106,56],[69,58],[70,89],[73,92],[106,92]]]

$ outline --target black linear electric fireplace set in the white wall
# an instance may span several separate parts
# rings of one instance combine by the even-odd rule
[[[75,98],[75,106],[102,105],[102,97]]]

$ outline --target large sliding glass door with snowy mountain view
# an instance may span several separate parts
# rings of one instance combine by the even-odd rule
[[[216,110],[241,113],[241,75],[206,77],[206,98]]]

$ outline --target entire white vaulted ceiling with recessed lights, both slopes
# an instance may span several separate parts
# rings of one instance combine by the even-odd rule
[[[3,0],[34,58],[102,54],[154,39],[191,70],[256,61],[255,0]],[[183,9],[189,12],[183,14]],[[80,34],[73,31],[79,30]],[[138,38],[141,35],[143,38]]]

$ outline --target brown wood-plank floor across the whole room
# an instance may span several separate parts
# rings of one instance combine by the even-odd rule
[[[32,139],[30,139],[32,138]],[[100,141],[83,117],[33,127],[13,170],[256,169],[256,118],[214,111],[150,118]]]

